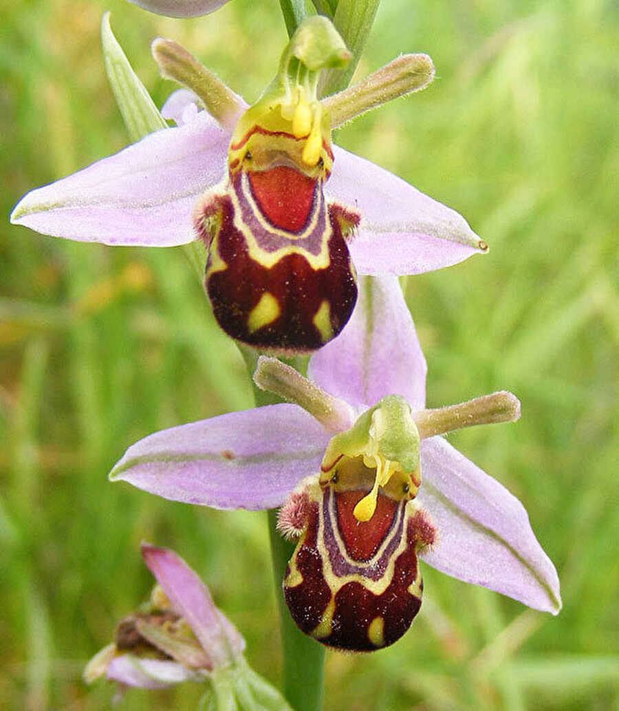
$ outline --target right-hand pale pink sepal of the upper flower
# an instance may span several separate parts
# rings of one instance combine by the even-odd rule
[[[361,213],[350,255],[360,274],[420,274],[488,248],[455,210],[365,159],[335,148],[325,192]]]

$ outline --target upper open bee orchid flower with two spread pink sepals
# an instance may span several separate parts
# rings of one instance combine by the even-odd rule
[[[104,36],[109,48],[109,26]],[[333,128],[426,86],[434,77],[427,55],[400,57],[319,100],[321,71],[343,65],[349,53],[330,22],[313,16],[247,108],[175,43],[156,40],[153,51],[164,75],[190,87],[210,113],[182,100],[179,107],[174,96],[164,108],[177,127],[28,193],[13,223],[109,245],[199,237],[217,321],[233,338],[277,353],[313,351],[337,336],[357,298],[355,269],[418,274],[487,250],[453,210],[331,144]],[[108,63],[117,84],[131,72],[117,71],[120,61]],[[156,109],[132,81],[119,94],[145,102],[142,114],[134,112],[139,132],[143,114]]]

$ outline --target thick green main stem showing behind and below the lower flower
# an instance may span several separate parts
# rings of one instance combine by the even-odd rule
[[[240,346],[241,353],[252,375],[257,363],[257,353]],[[260,390],[253,383],[256,405],[273,405],[281,398],[266,390]],[[310,637],[300,632],[292,620],[281,582],[284,580],[286,565],[294,551],[294,543],[285,540],[276,529],[277,511],[268,512],[269,539],[275,594],[279,611],[279,633],[284,652],[284,696],[295,711],[320,711],[323,703],[325,650]]]

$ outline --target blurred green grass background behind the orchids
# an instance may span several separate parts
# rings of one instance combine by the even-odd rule
[[[155,429],[249,407],[235,347],[176,249],[7,223],[28,189],[127,143],[99,49],[112,27],[159,105],[169,36],[248,100],[285,41],[275,0],[176,21],[122,0],[0,10],[0,706],[95,710],[82,667],[146,597],[142,539],[175,548],[279,678],[266,516],[158,500],[107,471]],[[358,72],[424,51],[428,90],[336,140],[465,215],[487,257],[410,278],[429,405],[509,389],[512,425],[451,441],[521,498],[561,577],[554,618],[424,567],[421,614],[371,656],[329,653],[325,709],[619,709],[619,11],[612,0],[384,0]],[[119,709],[195,707],[189,686]],[[6,704],[6,706],[5,706]]]

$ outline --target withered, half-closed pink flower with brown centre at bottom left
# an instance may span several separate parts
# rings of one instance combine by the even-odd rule
[[[236,699],[247,711],[290,711],[279,692],[249,668],[244,639],[185,561],[146,543],[141,552],[157,584],[149,602],[119,622],[114,643],[87,664],[86,683],[102,676],[120,688],[203,682],[213,708],[237,708],[236,702],[225,705]]]

